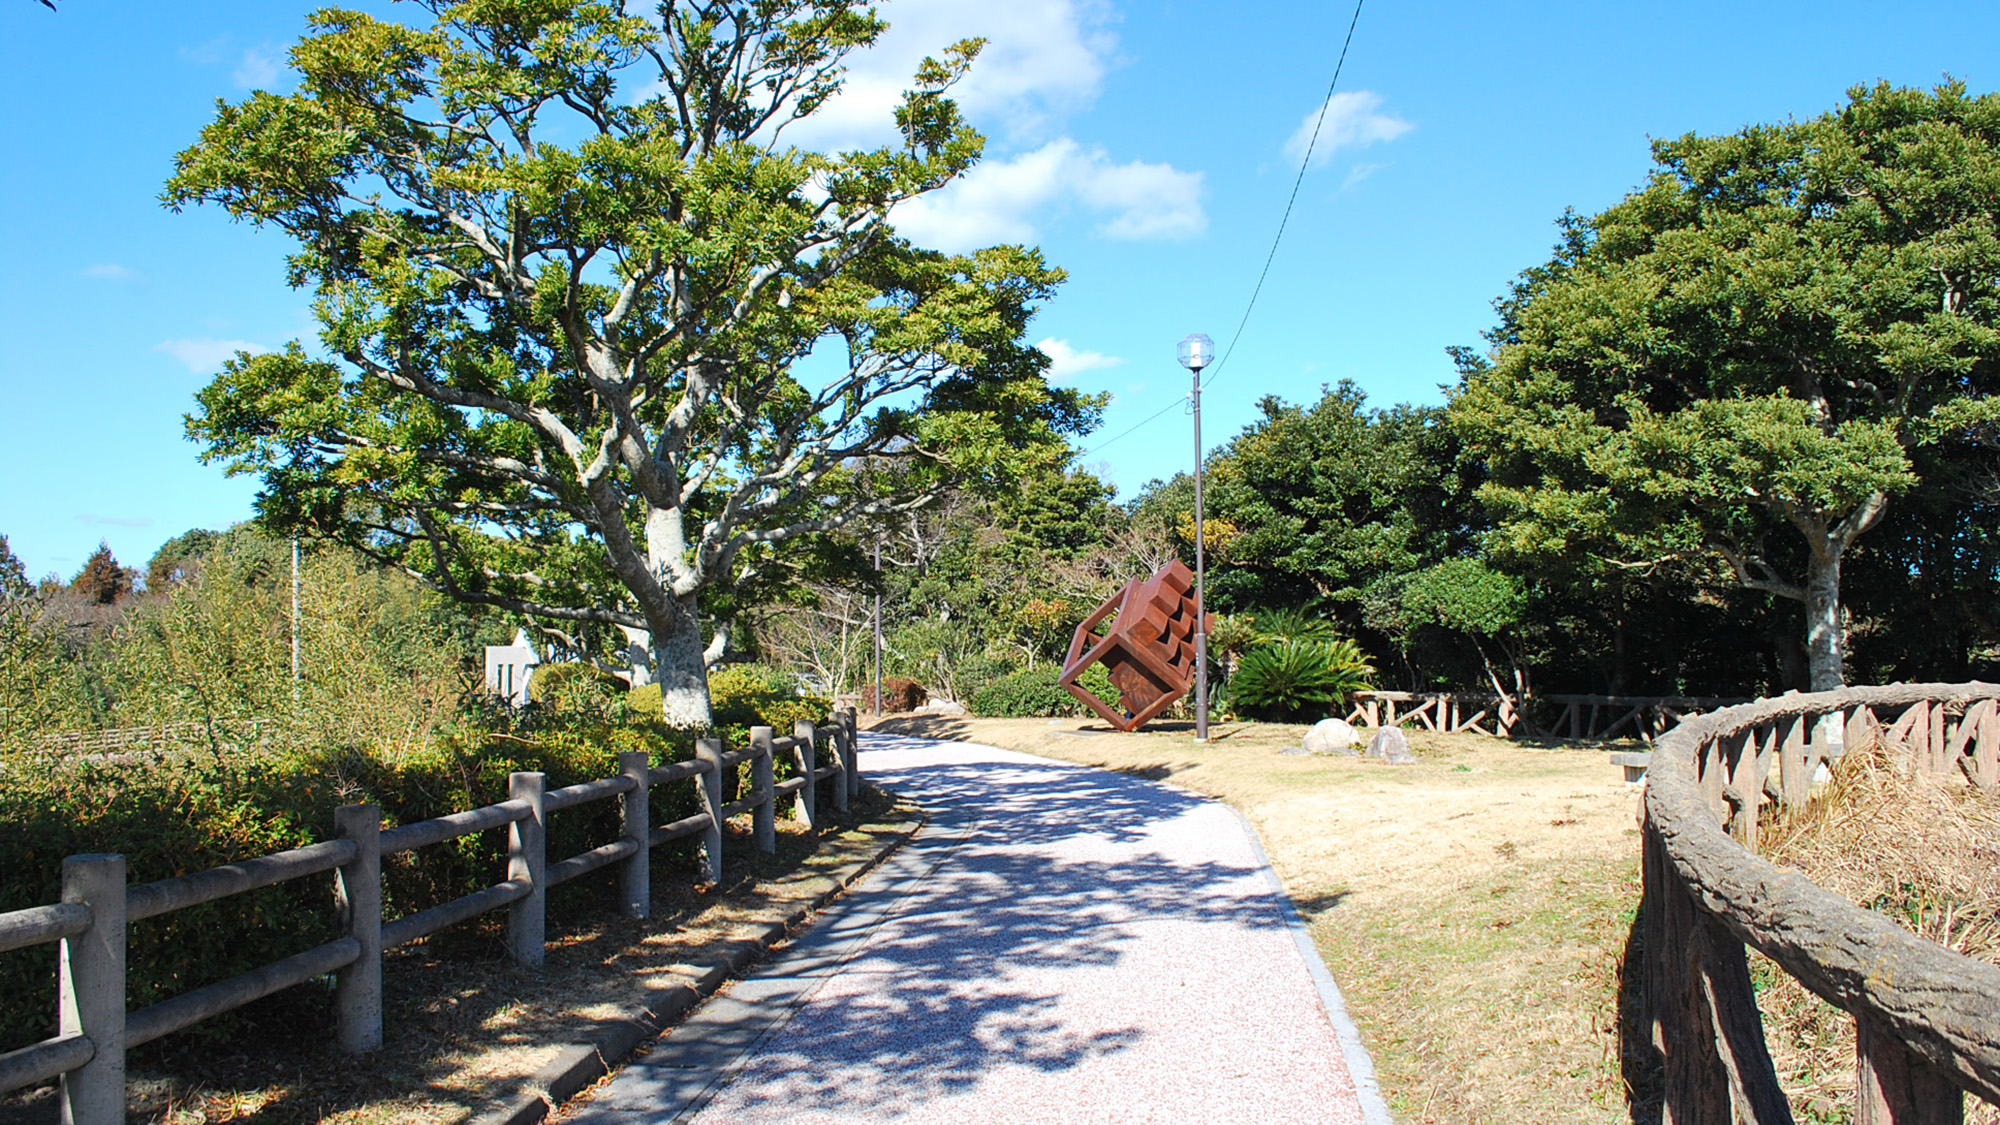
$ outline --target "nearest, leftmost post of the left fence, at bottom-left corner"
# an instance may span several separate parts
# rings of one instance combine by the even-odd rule
[[[96,1053],[62,1075],[64,1125],[124,1125],[124,857],[62,861],[62,901],[90,907],[90,929],[62,939],[62,1035],[84,1035]]]

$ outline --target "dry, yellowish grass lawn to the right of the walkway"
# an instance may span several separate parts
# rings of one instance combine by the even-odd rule
[[[1408,1123],[1630,1121],[1620,965],[1638,789],[1604,747],[1410,733],[1418,763],[1284,755],[1304,727],[1126,735],[1084,719],[890,719],[1170,781],[1256,827]]]

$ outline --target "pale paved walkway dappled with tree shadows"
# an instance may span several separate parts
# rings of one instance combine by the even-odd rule
[[[862,747],[932,825],[566,1123],[1388,1125],[1234,811],[992,747]]]

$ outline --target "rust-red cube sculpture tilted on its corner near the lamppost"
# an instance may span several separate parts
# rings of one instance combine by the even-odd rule
[[[1076,683],[1090,665],[1104,665],[1122,715]],[[1194,573],[1176,558],[1126,583],[1076,627],[1056,683],[1120,731],[1138,731],[1172,707],[1194,687]]]

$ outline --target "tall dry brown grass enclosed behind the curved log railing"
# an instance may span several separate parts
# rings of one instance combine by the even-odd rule
[[[1772,863],[1946,949],[2000,963],[2000,797],[1920,775],[1900,747],[1878,745],[1842,759],[1802,813],[1762,835]],[[1846,1121],[1854,1021],[1758,955],[1752,971],[1792,1103],[1808,1121]],[[2000,1109],[1974,1101],[1966,1121],[2000,1123]]]

